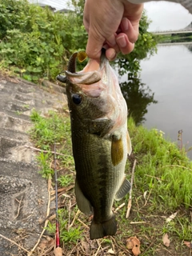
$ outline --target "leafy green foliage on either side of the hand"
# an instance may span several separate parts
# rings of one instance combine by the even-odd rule
[[[66,70],[70,55],[85,50],[87,33],[83,26],[84,0],[71,0],[74,10],[65,15],[26,0],[0,0],[0,66],[38,82],[54,80]],[[156,41],[147,32],[149,22],[143,14],[135,49],[126,56],[118,55],[119,74],[140,70],[139,60],[153,54]]]

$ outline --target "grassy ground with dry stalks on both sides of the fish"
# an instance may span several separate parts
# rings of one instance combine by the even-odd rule
[[[35,145],[47,152],[38,154],[38,163],[43,177],[54,173],[53,163],[54,139],[56,142],[58,186],[63,188],[58,195],[60,210],[58,212],[60,236],[64,244],[65,254],[72,248],[74,254],[85,254],[98,250],[98,242],[89,241],[90,218],[78,213],[74,197],[74,159],[72,157],[70,139],[70,118],[65,111],[50,112],[42,117],[35,110],[31,115],[34,128],[30,136]],[[130,218],[126,219],[126,206],[129,194],[120,202],[114,202],[114,208],[126,203],[118,210],[118,232],[114,238],[99,239],[101,248],[110,247],[118,252],[128,254],[126,238],[136,235],[141,242],[142,255],[186,255],[188,248],[183,241],[191,240],[192,226],[190,207],[192,206],[192,162],[186,157],[186,151],[164,138],[162,131],[146,130],[143,126],[135,126],[132,118],[128,122],[133,152],[127,161],[126,174],[130,179],[134,159],[137,161],[134,174],[132,208]],[[144,198],[146,193],[146,199]],[[178,212],[177,216],[166,223],[166,218]],[[74,220],[74,222],[73,222]],[[132,222],[132,224],[131,224]],[[141,224],[134,223],[142,222]],[[84,223],[84,224],[83,224]],[[55,222],[49,222],[47,230],[54,237]],[[162,244],[163,234],[169,234],[170,247]],[[107,248],[108,248],[107,247]],[[84,251],[82,252],[82,248]],[[88,249],[87,249],[88,250]],[[76,252],[76,254],[75,254]],[[87,253],[88,254],[88,253]],[[123,254],[122,254],[123,255]]]

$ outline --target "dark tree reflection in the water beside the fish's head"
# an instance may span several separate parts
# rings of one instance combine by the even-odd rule
[[[120,87],[129,108],[129,115],[134,118],[136,125],[141,124],[146,120],[144,115],[147,113],[147,106],[158,103],[154,100],[154,93],[140,78],[134,78],[130,74],[128,81],[121,82]]]

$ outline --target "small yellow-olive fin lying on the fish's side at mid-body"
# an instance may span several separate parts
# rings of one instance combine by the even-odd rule
[[[118,138],[115,135],[112,137],[111,143],[111,160],[114,166],[117,166],[123,158],[122,137]]]

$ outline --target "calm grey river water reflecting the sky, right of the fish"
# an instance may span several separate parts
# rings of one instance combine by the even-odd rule
[[[182,130],[183,145],[189,148],[192,146],[192,44],[158,46],[158,54],[143,60],[141,67],[140,83],[144,84],[142,88],[149,86],[151,98],[138,122],[162,130],[174,142],[178,140],[178,130]],[[129,95],[128,106],[131,101],[134,99]],[[139,102],[134,104],[139,108]],[[134,111],[134,106],[131,108]],[[192,151],[188,155],[192,158]]]

